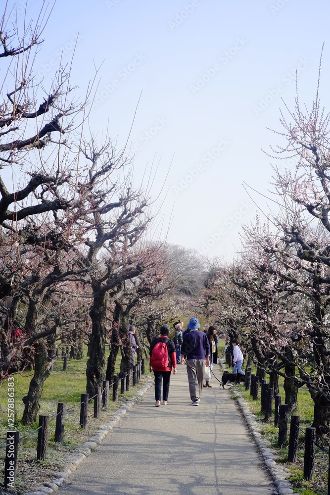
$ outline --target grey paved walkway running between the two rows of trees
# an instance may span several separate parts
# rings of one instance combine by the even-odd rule
[[[218,366],[214,372],[220,379]],[[185,366],[167,406],[151,387],[58,495],[271,495],[252,437],[228,390],[203,389],[191,406]]]

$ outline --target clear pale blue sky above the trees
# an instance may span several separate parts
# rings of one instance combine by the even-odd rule
[[[41,4],[29,0],[28,17]],[[100,66],[90,126],[109,126],[118,146],[142,92],[129,140],[137,182],[159,162],[153,192],[166,178],[168,240],[229,260],[241,223],[256,213],[242,182],[267,194],[272,159],[262,149],[278,143],[267,128],[281,130],[282,98],[293,108],[296,70],[310,106],[324,42],[328,106],[329,19],[327,0],[57,0],[35,72],[46,87],[78,38],[72,84],[83,97]],[[265,211],[265,199],[254,198]]]

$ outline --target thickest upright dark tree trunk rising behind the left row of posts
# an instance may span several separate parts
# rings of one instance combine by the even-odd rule
[[[97,292],[94,289],[93,306],[90,310],[92,319],[92,333],[90,335],[90,358],[86,367],[86,392],[94,396],[94,387],[102,387],[105,378],[105,342],[106,342],[106,301],[107,295],[104,292]]]

